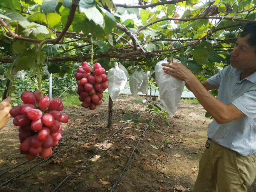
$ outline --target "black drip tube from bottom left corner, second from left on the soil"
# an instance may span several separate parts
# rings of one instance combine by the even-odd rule
[[[119,116],[121,116],[121,115],[122,115],[122,114],[120,114],[120,115],[114,117],[114,119],[117,118],[117,117],[119,117]],[[106,124],[106,123],[105,123],[105,124]],[[68,147],[66,147],[66,148],[64,148],[64,149],[62,149],[62,150],[56,152],[55,154],[53,154],[53,155],[50,156],[50,157],[47,157],[47,158],[43,159],[42,161],[40,161],[39,163],[37,163],[37,164],[33,165],[32,167],[28,168],[28,169],[25,170],[24,172],[21,172],[20,174],[18,174],[18,175],[16,175],[16,176],[12,177],[11,179],[5,181],[5,182],[2,183],[0,186],[4,186],[6,183],[9,183],[10,181],[16,179],[16,178],[19,177],[20,175],[23,175],[24,173],[30,171],[31,169],[35,168],[37,165],[43,163],[44,161],[47,161],[48,159],[52,158],[53,156],[56,156],[57,154],[59,154],[59,153],[65,151],[65,150],[67,150],[68,148],[72,147],[72,146],[75,145],[77,142],[79,142],[80,140],[82,140],[82,139],[84,139],[85,137],[89,136],[90,134],[92,134],[93,132],[95,132],[96,130],[98,130],[99,128],[101,128],[101,127],[98,127],[98,128],[96,128],[96,129],[94,129],[93,131],[91,131],[91,132],[89,132],[88,134],[86,134],[84,137],[80,138],[80,139],[77,140],[76,142],[74,142],[74,143],[72,143],[71,145],[69,145]]]

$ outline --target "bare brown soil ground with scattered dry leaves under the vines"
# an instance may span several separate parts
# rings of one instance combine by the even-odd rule
[[[111,129],[106,128],[108,100],[94,111],[81,107],[64,109],[70,120],[68,124],[63,124],[62,140],[68,137],[70,139],[54,147],[53,154],[79,141],[41,164],[38,163],[43,159],[37,157],[0,175],[0,185],[18,175],[2,185],[0,191],[52,191],[78,166],[80,168],[56,191],[110,191],[147,124],[128,122],[102,149],[98,152],[97,149],[126,123],[123,119],[124,115],[134,115],[141,111],[141,118],[148,120],[152,118],[151,114],[145,112],[147,104],[135,104],[134,100],[124,95],[114,104],[115,119]],[[193,191],[199,159],[204,151],[207,127],[211,122],[204,117],[204,114],[205,110],[200,104],[181,101],[176,115],[168,118],[171,127],[167,127],[163,117],[154,116],[153,124],[156,130],[150,128],[145,132],[114,191]],[[104,118],[96,122],[101,117]],[[99,129],[84,137],[96,128]],[[83,129],[84,131],[79,132]],[[25,156],[19,152],[19,145],[18,128],[12,125],[11,119],[0,132],[0,174],[26,161]],[[93,153],[96,153],[95,156],[83,164]],[[23,173],[31,167],[33,168]],[[255,190],[251,188],[249,191]]]

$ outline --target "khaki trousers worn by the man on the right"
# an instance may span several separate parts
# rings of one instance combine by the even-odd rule
[[[213,140],[199,162],[193,192],[246,192],[256,176],[256,153],[241,156]]]

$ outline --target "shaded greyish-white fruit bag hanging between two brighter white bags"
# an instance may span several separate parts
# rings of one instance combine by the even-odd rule
[[[136,70],[129,78],[130,91],[136,98],[138,92],[146,94],[148,92],[148,75],[140,69]]]

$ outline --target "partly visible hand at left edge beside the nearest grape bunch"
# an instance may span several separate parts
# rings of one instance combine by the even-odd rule
[[[0,130],[7,124],[10,119],[10,110],[12,108],[11,98],[7,97],[0,103]]]

